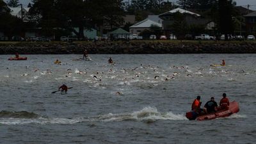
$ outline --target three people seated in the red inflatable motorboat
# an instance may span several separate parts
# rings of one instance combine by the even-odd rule
[[[222,94],[223,98],[220,100],[220,106],[214,101],[214,97],[211,97],[210,101],[205,103],[204,108],[200,108],[202,102],[200,101],[201,97],[197,96],[196,99],[193,101],[191,110],[196,112],[198,115],[202,115],[204,113],[212,113],[217,112],[218,110],[228,109],[229,100],[227,98],[227,94]]]

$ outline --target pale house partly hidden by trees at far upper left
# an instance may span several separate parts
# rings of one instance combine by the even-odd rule
[[[22,8],[22,12],[23,12],[23,17],[21,17],[21,7],[9,7],[11,10],[11,15],[18,17],[18,18],[23,18],[24,22],[28,22],[29,18],[28,18],[28,11],[30,8]]]

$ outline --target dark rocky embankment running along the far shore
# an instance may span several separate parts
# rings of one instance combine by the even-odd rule
[[[256,41],[90,41],[0,43],[0,54],[256,54]]]

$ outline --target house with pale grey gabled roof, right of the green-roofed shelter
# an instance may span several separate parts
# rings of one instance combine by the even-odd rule
[[[145,29],[150,29],[152,25],[162,28],[163,20],[158,17],[158,15],[148,15],[148,18],[138,22],[131,27],[129,27],[129,31],[132,34],[140,34],[140,32],[144,31]]]

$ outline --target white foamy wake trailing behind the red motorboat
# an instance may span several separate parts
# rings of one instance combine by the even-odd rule
[[[156,122],[157,120],[188,120],[184,114],[172,112],[160,113],[156,108],[146,107],[138,112],[99,115],[97,117],[80,117],[72,119],[42,117],[36,113],[29,112],[0,112],[0,124],[22,125],[22,124],[76,124],[79,122],[120,122],[141,121]]]

